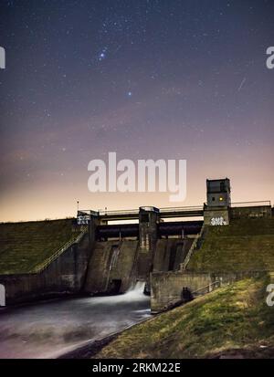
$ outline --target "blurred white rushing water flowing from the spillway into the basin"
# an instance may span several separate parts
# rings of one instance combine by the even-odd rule
[[[55,358],[150,317],[137,283],[123,295],[68,298],[0,311],[0,358]]]

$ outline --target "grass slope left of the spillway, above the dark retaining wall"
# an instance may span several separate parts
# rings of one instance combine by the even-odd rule
[[[71,219],[0,224],[0,275],[31,272],[76,236]]]

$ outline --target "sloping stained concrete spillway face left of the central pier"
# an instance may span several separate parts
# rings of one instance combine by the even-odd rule
[[[136,277],[136,240],[96,242],[90,258],[85,291],[90,294],[122,293]],[[115,286],[121,281],[121,286]]]

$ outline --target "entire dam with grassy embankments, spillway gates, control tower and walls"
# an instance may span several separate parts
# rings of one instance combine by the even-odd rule
[[[1,224],[0,305],[68,295],[117,295],[141,281],[144,293],[151,296],[152,311],[159,312],[184,302],[186,291],[194,298],[241,274],[269,269],[268,264],[246,264],[235,270],[237,255],[230,249],[232,240],[237,253],[243,253],[257,239],[247,238],[250,229],[252,236],[260,236],[262,226],[269,233],[261,235],[259,247],[268,249],[268,237],[274,233],[271,204],[231,204],[227,178],[207,180],[206,199],[203,206],[79,210],[74,219]],[[242,237],[234,235],[239,229]],[[232,263],[229,271],[214,270],[208,263],[222,250],[221,257]]]

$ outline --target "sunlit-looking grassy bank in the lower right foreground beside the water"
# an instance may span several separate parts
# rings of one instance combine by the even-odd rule
[[[95,358],[207,358],[274,356],[274,307],[266,304],[269,278],[219,288],[130,330]]]

